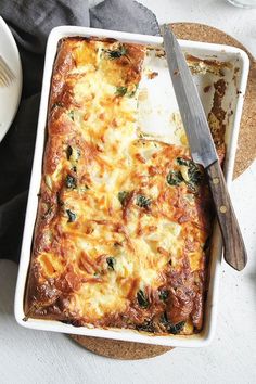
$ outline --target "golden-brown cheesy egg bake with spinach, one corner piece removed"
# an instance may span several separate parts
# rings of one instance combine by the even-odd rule
[[[112,40],[61,43],[27,316],[154,333],[202,327],[207,188],[191,190],[185,145],[140,138],[144,54]]]

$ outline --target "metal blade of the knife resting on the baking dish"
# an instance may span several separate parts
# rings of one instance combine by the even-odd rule
[[[180,46],[164,26],[164,48],[192,158],[205,168],[218,159],[203,105]]]

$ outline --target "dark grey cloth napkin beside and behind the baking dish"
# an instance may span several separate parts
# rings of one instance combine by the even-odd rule
[[[59,25],[158,35],[155,15],[131,0],[105,0],[89,10],[87,0],[1,0],[0,14],[18,46],[22,102],[0,143],[0,258],[18,261],[35,146],[46,42]]]

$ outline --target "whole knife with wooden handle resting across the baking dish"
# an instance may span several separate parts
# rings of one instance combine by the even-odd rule
[[[239,223],[227,190],[218,155],[203,105],[180,46],[168,25],[163,29],[164,48],[191,156],[208,176],[216,215],[222,234],[225,260],[241,271],[247,255]]]

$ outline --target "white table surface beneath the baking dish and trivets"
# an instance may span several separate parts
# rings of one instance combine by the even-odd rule
[[[97,3],[99,1],[91,1]],[[256,55],[256,10],[225,0],[141,0],[159,23],[199,22],[218,27]],[[13,297],[17,267],[0,261],[0,383],[256,383],[256,162],[232,185],[231,195],[248,251],[239,273],[222,264],[218,329],[206,348],[176,348],[149,360],[95,356],[56,333],[16,324]]]

